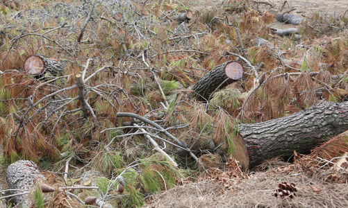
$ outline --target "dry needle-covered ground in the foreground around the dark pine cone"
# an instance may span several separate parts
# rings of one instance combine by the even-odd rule
[[[281,182],[293,182],[294,198],[276,198]],[[147,207],[348,207],[347,184],[329,184],[302,174],[256,173],[236,180],[229,190],[215,181],[199,182],[166,191]]]

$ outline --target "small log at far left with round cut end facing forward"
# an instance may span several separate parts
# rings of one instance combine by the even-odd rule
[[[30,75],[42,75],[49,71],[53,76],[63,74],[65,62],[59,62],[42,55],[31,55],[24,62],[24,70]]]

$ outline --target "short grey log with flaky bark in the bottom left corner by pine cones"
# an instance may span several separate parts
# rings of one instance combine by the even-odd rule
[[[44,178],[38,169],[38,166],[29,160],[19,160],[10,164],[6,169],[6,180],[10,189],[22,189],[30,191],[33,184],[39,178]],[[11,194],[18,193],[13,192]],[[30,207],[30,202],[26,200],[26,195],[15,196],[13,202],[19,207]]]

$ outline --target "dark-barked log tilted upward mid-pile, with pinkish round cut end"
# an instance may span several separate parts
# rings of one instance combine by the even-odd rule
[[[196,85],[192,87],[192,90],[197,94],[199,100],[208,101],[210,94],[215,92],[218,88],[220,89],[240,80],[243,73],[243,66],[239,62],[224,62],[202,77]]]

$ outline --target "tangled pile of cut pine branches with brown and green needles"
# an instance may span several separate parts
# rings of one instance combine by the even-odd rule
[[[274,12],[251,1],[24,2],[0,3],[1,166],[30,159],[57,189],[100,173],[96,190],[38,191],[33,205],[142,206],[170,189],[149,206],[347,207],[345,167],[332,168],[347,137],[265,173],[230,158],[240,123],[348,100],[347,12],[302,19],[297,39],[272,34]],[[63,74],[28,75],[31,55],[64,62]],[[192,85],[231,60],[242,80],[198,101]],[[272,195],[283,181],[294,200]]]

